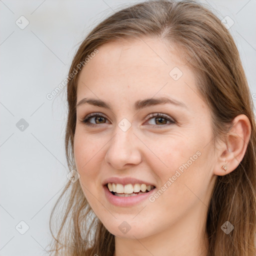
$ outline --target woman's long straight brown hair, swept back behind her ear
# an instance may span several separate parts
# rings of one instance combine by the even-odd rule
[[[235,116],[245,114],[248,117],[251,135],[245,155],[235,170],[217,176],[205,231],[209,239],[209,256],[255,256],[256,129],[253,102],[232,36],[202,4],[192,0],[137,3],[110,15],[86,36],[69,69],[69,75],[74,71],[78,74],[67,83],[65,149],[69,170],[75,166],[73,139],[79,63],[104,43],[143,36],[178,45],[184,53],[211,112],[213,141],[226,134]],[[54,212],[57,213],[55,217]],[[234,226],[229,234],[221,230],[227,220]],[[58,230],[56,235],[52,232],[53,223]],[[114,235],[95,216],[79,182],[68,180],[52,209],[49,224],[53,236],[49,251],[54,255],[113,255]]]

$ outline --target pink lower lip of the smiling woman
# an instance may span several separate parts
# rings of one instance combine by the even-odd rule
[[[146,198],[148,198],[148,196],[150,194],[152,194],[155,191],[155,188],[153,188],[149,192],[146,192],[144,194],[121,197],[121,196],[113,195],[109,191],[107,186],[104,185],[103,188],[104,188],[105,196],[106,196],[107,200],[116,206],[132,206],[134,204],[137,204],[137,203],[145,200]]]

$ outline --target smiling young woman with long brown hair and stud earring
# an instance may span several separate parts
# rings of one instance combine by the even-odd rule
[[[165,0],[112,14],[77,50],[67,101],[54,255],[255,255],[253,103],[214,14]]]

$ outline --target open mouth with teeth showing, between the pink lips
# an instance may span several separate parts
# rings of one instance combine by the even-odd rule
[[[104,185],[112,195],[120,197],[137,196],[139,194],[145,194],[155,188],[154,185],[146,185],[139,183],[119,184],[108,182]]]

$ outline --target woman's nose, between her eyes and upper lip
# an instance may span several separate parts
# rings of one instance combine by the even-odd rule
[[[109,141],[105,161],[112,168],[119,170],[128,168],[133,164],[139,164],[141,153],[138,147],[139,140],[133,134],[132,128],[123,131],[117,126],[114,136]]]

